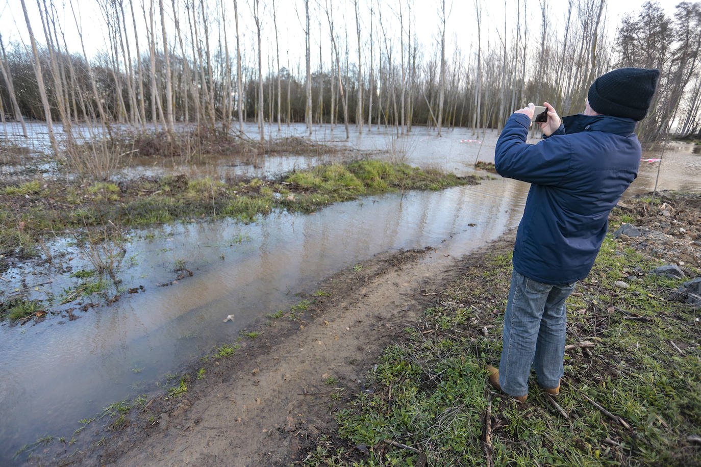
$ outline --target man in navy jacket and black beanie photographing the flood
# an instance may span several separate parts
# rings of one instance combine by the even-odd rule
[[[597,78],[584,114],[564,117],[545,102],[545,139],[526,144],[533,103],[516,111],[496,143],[501,176],[531,183],[514,247],[499,369],[489,382],[524,402],[531,363],[538,384],[559,393],[565,300],[589,274],[608,229],[608,214],[637,176],[634,130],[650,106],[660,73],[623,68]]]

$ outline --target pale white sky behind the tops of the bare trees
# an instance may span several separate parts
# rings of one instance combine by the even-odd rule
[[[0,7],[0,33],[3,36],[3,40],[6,45],[10,41],[24,41],[29,45],[27,27],[25,25],[25,20],[22,15],[22,8],[20,0],[0,0],[4,3]],[[323,60],[327,62],[329,60],[329,48],[330,41],[328,35],[328,25],[325,18],[325,13],[323,10],[319,11],[318,1],[321,2],[323,6],[323,0],[311,0],[310,8],[313,10],[313,20],[312,20],[312,57],[313,57],[313,69],[318,67],[318,55],[319,55],[319,40],[321,39]],[[486,47],[489,41],[490,47],[494,48],[494,44],[499,41],[497,31],[499,34],[503,34],[504,27],[504,2],[503,0],[479,0],[482,2],[482,46]],[[523,1],[521,0],[521,8],[523,11]],[[540,34],[540,1],[539,0],[526,0],[528,6],[528,16],[529,16],[529,41],[533,43],[538,42],[538,36]],[[69,0],[54,0],[59,15],[62,18],[62,23],[66,28],[67,43],[69,48],[72,48],[76,53],[80,52],[80,42],[79,36],[76,32],[76,27],[72,17],[72,12],[69,6]],[[83,28],[83,36],[86,40],[86,49],[88,55],[95,55],[100,53],[102,50],[106,50],[107,38],[104,34],[104,20],[102,18],[102,13],[97,6],[97,1],[95,0],[73,0],[74,6],[79,10],[80,22]],[[181,2],[182,3],[182,2]],[[371,3],[371,0],[360,0],[360,4],[365,6],[366,11],[369,8],[367,5]],[[376,8],[377,3],[373,2]],[[406,5],[406,2],[402,0],[402,3]],[[665,9],[668,15],[672,15],[674,12],[674,6],[679,4],[679,1],[672,0],[662,0],[658,2],[662,8]],[[158,6],[158,1],[155,2],[156,7]],[[166,0],[164,2],[165,8],[168,12],[170,11],[170,1]],[[264,15],[264,39],[263,48],[266,50],[271,50],[274,53],[275,50],[275,36],[273,33],[273,18],[271,14],[271,4],[272,0],[261,0],[261,11]],[[290,61],[292,62],[292,71],[297,71],[297,63],[300,63],[301,68],[304,68],[304,33],[302,32],[302,22],[304,20],[304,1],[303,0],[276,0],[275,4],[277,6],[277,20],[278,29],[280,35],[280,53],[281,64],[285,66],[287,59],[285,57],[286,51],[290,50]],[[383,22],[385,22],[385,27],[388,30],[389,36],[397,36],[399,26],[398,20],[395,18],[396,15],[390,11],[390,8],[394,8],[396,11],[397,1],[393,0],[383,0]],[[416,29],[418,35],[418,41],[420,46],[423,48],[423,53],[426,57],[433,55],[434,50],[437,47],[436,38],[437,31],[439,27],[439,16],[437,9],[437,0],[416,0],[414,1],[414,11],[416,13],[416,24],[412,27]],[[447,4],[450,8],[450,15],[447,21],[446,36],[448,41],[447,46],[447,60],[450,60],[453,50],[455,50],[456,45],[461,48],[463,54],[463,62],[465,62],[465,57],[470,53],[476,53],[477,50],[477,22],[475,20],[475,1],[472,0],[447,0]],[[615,29],[620,25],[620,20],[629,13],[637,13],[644,4],[644,0],[608,0],[606,2],[606,34],[613,38],[615,34]],[[227,34],[230,43],[231,53],[235,53],[236,50],[236,36],[233,23],[233,1],[227,1],[225,4],[228,11],[226,12],[227,20]],[[344,23],[348,27],[348,41],[351,48],[351,61],[355,62],[357,59],[353,60],[353,57],[357,57],[357,39],[355,39],[355,15],[353,13],[353,1],[352,0],[333,0],[333,10],[334,10],[334,25],[336,27],[336,34],[341,37],[341,43],[343,43],[343,36],[345,32],[343,31]],[[507,31],[508,34],[512,34],[515,29],[516,22],[516,0],[507,0],[507,6],[510,13],[507,17]],[[37,13],[36,1],[27,0],[27,8],[29,10],[29,19],[32,21],[32,28],[34,29],[34,34],[37,39],[43,43],[40,38],[43,38],[43,33],[41,32],[41,20]],[[137,15],[137,23],[142,24],[142,18],[140,12],[140,2],[135,0],[135,14]],[[181,6],[182,8],[182,6]],[[554,1],[547,0],[547,8],[550,12],[548,14],[550,22],[550,30],[552,32],[564,32],[564,25],[566,22],[567,13],[567,3],[566,1]],[[254,40],[254,23],[252,20],[252,13],[247,0],[238,1],[238,13],[240,17],[240,30],[243,34],[242,41],[243,47],[245,48],[245,55],[250,57],[249,61],[252,60],[254,53],[254,46],[256,44]],[[361,9],[362,10],[362,9]],[[299,11],[299,13],[298,13]],[[406,15],[407,12],[404,11]],[[321,16],[323,15],[323,16]],[[366,19],[369,18],[369,14],[361,16]],[[319,23],[321,20],[321,33],[319,32]],[[405,20],[407,20],[405,18]],[[130,28],[130,22],[128,22],[128,28]],[[404,27],[407,27],[405,25]],[[364,50],[367,51],[369,46],[369,40],[367,38],[367,32],[369,31],[369,24],[361,24],[363,29],[363,35],[361,37],[361,42],[364,43]],[[375,26],[377,28],[377,26]],[[212,27],[212,29],[215,29]],[[139,27],[141,31],[139,33],[139,39],[142,43],[145,43],[145,33],[143,27]],[[377,31],[377,29],[375,29]],[[215,35],[216,31],[210,31],[210,36]],[[321,36],[320,36],[321,34]],[[377,37],[377,36],[375,36]],[[170,35],[169,41],[172,43],[174,37]],[[509,38],[511,40],[511,38]],[[216,43],[216,40],[215,40]],[[266,44],[268,44],[266,46]],[[343,47],[343,46],[341,46]],[[142,51],[144,46],[142,46]],[[364,52],[365,53],[365,52]],[[369,60],[364,57],[364,61]],[[268,58],[264,57],[264,68],[268,63]]]

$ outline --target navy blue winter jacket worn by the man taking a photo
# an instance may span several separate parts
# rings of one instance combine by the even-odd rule
[[[538,144],[529,118],[515,113],[496,143],[496,171],[531,183],[514,247],[514,269],[545,284],[584,279],[608,230],[608,214],[635,179],[641,147],[635,122],[564,117]]]

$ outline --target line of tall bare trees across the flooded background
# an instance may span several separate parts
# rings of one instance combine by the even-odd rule
[[[346,137],[351,125],[390,126],[397,135],[413,125],[439,135],[456,126],[501,129],[529,100],[547,99],[562,115],[582,111],[594,78],[627,66],[661,72],[641,139],[700,132],[701,2],[681,2],[672,17],[648,2],[611,38],[606,0],[568,0],[564,29],[553,27],[552,0],[505,0],[503,23],[485,20],[486,2],[472,0],[477,39],[447,56],[456,26],[446,0],[435,3],[430,46],[418,41],[414,0],[298,0],[304,46],[284,50],[281,0],[98,0],[108,46],[88,56],[74,0],[37,0],[31,18],[20,1],[15,22],[29,44],[0,36],[0,115],[22,125],[46,120],[56,150],[55,122],[69,138],[86,121],[172,134],[177,122],[230,131],[254,120],[261,139],[265,122],[305,122],[310,133],[342,123]],[[80,43],[67,43],[67,28]],[[290,48],[304,50],[304,69],[290,62]]]

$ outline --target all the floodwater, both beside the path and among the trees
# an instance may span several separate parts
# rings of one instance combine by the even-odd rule
[[[276,127],[271,132],[276,136]],[[304,132],[304,125],[283,126],[285,135]],[[396,138],[391,129],[373,127],[362,137],[353,130],[346,142],[341,125],[331,133],[317,128],[313,137],[339,147],[389,150],[377,157],[461,175],[472,173],[476,158],[494,160],[497,137],[460,129],[439,139],[415,127],[411,136]],[[660,155],[658,189],[701,190],[701,155],[692,146],[670,144],[664,154],[644,158]],[[220,160],[201,170],[275,176],[325,161],[276,156],[248,166]],[[129,170],[143,174],[147,168],[153,174],[182,169],[161,162]],[[189,169],[200,173],[198,167]],[[629,194],[651,190],[657,171],[657,162],[641,162]],[[15,452],[45,435],[69,440],[80,419],[152,391],[157,382],[175,385],[177,379],[168,383],[168,375],[216,345],[233,342],[266,314],[288,309],[297,300],[294,293],[313,292],[321,279],[375,253],[434,246],[435,256],[461,256],[496,239],[518,224],[527,192],[526,183],[497,177],[440,192],[364,197],[315,214],[273,213],[251,225],[216,221],[132,232],[120,278],[123,287],[142,285],[144,292],[123,293],[113,305],[87,312],[74,310],[75,321],[50,316],[25,326],[0,326],[0,464],[22,461],[22,456],[13,460]],[[48,244],[48,250],[55,253],[53,265],[8,270],[3,277],[9,282],[0,282],[0,293],[25,288],[34,298],[46,298],[75,286],[78,279],[64,271],[89,267],[80,252],[67,239]],[[158,286],[175,279],[172,270],[183,262],[192,277]],[[229,314],[236,319],[223,323]]]

